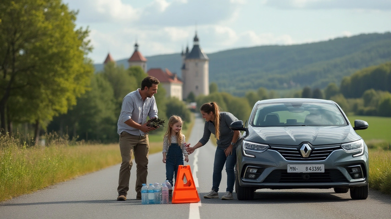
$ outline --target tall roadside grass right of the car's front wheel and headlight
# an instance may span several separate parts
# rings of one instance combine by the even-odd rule
[[[369,150],[369,186],[391,194],[391,151]]]

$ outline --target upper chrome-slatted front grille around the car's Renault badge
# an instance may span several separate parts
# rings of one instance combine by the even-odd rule
[[[287,161],[323,161],[334,150],[342,149],[340,146],[312,148],[308,157],[302,157],[298,148],[285,148],[271,146],[270,150],[278,151]]]

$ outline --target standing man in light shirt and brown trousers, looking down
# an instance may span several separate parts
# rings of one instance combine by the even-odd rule
[[[136,171],[136,199],[141,199],[141,187],[147,183],[148,175],[148,133],[155,130],[147,126],[149,118],[158,117],[154,94],[158,90],[158,79],[148,76],[141,82],[141,89],[127,94],[122,100],[121,114],[118,118],[118,134],[120,135],[120,151],[122,163],[118,180],[117,201],[126,201],[129,191],[130,170],[132,168],[132,154],[135,155]]]

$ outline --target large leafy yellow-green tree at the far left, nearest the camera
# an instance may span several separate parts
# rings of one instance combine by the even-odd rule
[[[39,125],[66,113],[90,83],[89,31],[75,29],[77,12],[61,0],[4,1],[0,8],[1,128],[14,98],[30,108],[18,118],[35,123],[38,141]]]

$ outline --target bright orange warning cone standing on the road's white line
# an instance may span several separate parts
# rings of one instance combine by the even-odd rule
[[[183,182],[185,179],[187,182]],[[197,189],[194,185],[194,179],[190,166],[179,165],[176,176],[174,194],[172,195],[172,203],[195,203],[199,202]]]

